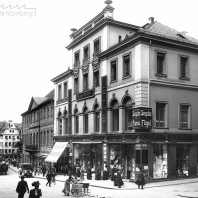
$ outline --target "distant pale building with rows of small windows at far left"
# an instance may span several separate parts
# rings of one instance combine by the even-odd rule
[[[16,143],[21,141],[21,124],[12,120],[0,122],[0,156],[6,160],[15,159],[19,161],[20,155]]]

